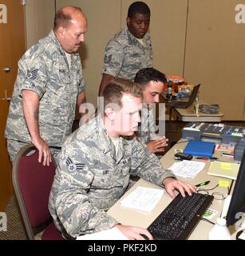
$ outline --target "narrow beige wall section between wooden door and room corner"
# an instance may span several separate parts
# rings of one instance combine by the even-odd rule
[[[53,28],[55,0],[26,0],[26,49]]]

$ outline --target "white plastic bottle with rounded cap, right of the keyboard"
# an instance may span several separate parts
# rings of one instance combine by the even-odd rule
[[[226,224],[226,219],[217,218],[217,224],[208,233],[208,240],[231,240],[231,234]]]

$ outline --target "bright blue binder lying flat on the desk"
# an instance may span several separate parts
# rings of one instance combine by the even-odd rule
[[[185,154],[198,155],[205,158],[211,158],[211,155],[215,150],[215,142],[200,142],[200,141],[190,141],[185,147]]]

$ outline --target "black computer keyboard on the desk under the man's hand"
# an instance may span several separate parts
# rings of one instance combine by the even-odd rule
[[[187,239],[211,205],[213,198],[211,195],[199,193],[183,198],[178,194],[148,226],[148,231],[157,240]]]

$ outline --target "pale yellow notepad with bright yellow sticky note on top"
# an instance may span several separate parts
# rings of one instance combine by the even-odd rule
[[[234,162],[211,162],[207,171],[208,175],[231,178],[236,180],[239,172],[239,164]]]

